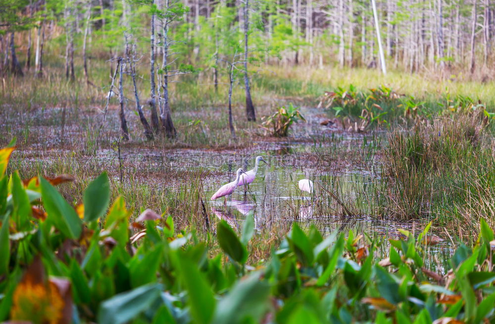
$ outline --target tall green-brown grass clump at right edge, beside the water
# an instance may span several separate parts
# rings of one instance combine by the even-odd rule
[[[476,221],[493,215],[494,140],[484,108],[460,111],[401,127],[385,151],[383,213],[402,219]]]

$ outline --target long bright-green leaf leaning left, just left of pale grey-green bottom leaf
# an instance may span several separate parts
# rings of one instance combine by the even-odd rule
[[[188,294],[188,305],[195,324],[209,324],[215,311],[215,298],[203,274],[199,272],[198,265],[193,263],[186,255],[175,254],[175,262],[178,266],[178,275]]]

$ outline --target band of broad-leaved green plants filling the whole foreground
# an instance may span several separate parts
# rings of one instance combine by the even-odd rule
[[[195,231],[177,233],[170,216],[147,210],[131,222],[121,196],[110,204],[105,173],[76,207],[54,187],[62,178],[7,176],[12,151],[0,150],[1,321],[495,320],[494,232],[483,220],[474,247],[460,244],[443,269],[424,261],[434,237],[430,225],[417,236],[401,230],[402,238],[387,241],[352,231],[324,238],[297,223],[270,260],[253,268],[247,265],[251,217],[240,235],[218,222],[220,249],[211,248]]]

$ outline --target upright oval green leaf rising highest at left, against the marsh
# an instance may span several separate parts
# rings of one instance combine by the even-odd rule
[[[106,172],[99,175],[84,190],[84,221],[93,222],[102,217],[110,202],[110,183]]]

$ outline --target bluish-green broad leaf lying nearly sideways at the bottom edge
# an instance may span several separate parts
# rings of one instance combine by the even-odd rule
[[[147,310],[160,298],[161,284],[148,284],[117,294],[100,304],[99,324],[123,324]]]

